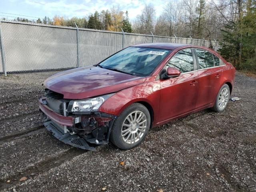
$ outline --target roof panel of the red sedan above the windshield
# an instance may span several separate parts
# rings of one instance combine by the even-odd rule
[[[174,50],[175,48],[182,47],[182,46],[192,46],[192,45],[178,44],[178,43],[143,43],[143,44],[133,45],[132,47],[148,47],[148,48]]]

